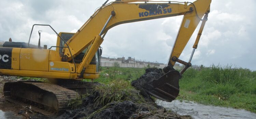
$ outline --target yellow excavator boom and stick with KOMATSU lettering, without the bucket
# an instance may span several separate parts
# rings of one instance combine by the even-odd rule
[[[133,3],[140,1],[144,3]],[[72,55],[75,57],[90,46],[86,55],[84,55],[83,62],[76,70],[78,75],[82,75],[102,43],[106,32],[112,27],[123,23],[184,15],[168,62],[168,66],[172,67],[175,62],[181,61],[178,58],[202,17],[204,15],[207,16],[210,12],[210,3],[211,0],[197,0],[193,3],[171,1],[166,3],[154,1],[153,3],[144,0],[117,0],[106,5],[103,4],[67,41],[71,51],[67,48],[64,49],[62,59],[70,61]],[[184,63],[184,61],[180,63],[188,64]],[[168,72],[172,68],[165,69]]]

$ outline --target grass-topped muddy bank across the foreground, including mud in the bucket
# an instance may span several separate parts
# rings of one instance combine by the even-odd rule
[[[161,69],[146,69],[146,73],[132,85],[141,85],[143,81],[153,81],[162,75]],[[141,80],[143,79],[143,80]],[[147,80],[144,80],[147,79]],[[14,80],[15,81],[15,80]],[[2,106],[5,106],[2,105]],[[94,87],[90,94],[83,95],[70,102],[72,109],[62,113],[44,116],[36,112],[29,112],[29,116],[23,118],[31,119],[191,119],[190,116],[181,116],[175,112],[167,111],[158,106],[155,100],[143,90],[134,89],[123,80],[114,81],[110,85]],[[28,115],[28,111],[15,111],[20,115]]]

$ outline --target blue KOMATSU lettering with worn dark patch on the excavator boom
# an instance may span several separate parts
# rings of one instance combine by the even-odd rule
[[[146,12],[140,12],[139,17],[154,16],[160,14],[167,14],[172,12],[172,8],[166,8],[168,4],[140,4],[139,8],[147,10]]]

